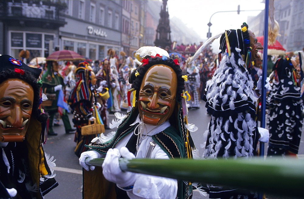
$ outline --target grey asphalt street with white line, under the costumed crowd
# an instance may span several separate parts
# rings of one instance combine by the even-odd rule
[[[70,119],[72,115],[69,115]],[[109,122],[112,121],[114,115],[109,115]],[[197,158],[202,157],[203,149],[206,144],[206,138],[204,132],[207,129],[210,116],[206,115],[205,103],[201,102],[201,108],[197,110],[189,110],[188,123],[194,123],[199,127],[199,130],[192,133],[193,140],[195,142],[196,150],[194,156]],[[71,122],[72,124],[72,122]],[[59,183],[59,186],[50,191],[45,196],[45,199],[81,199],[81,186],[82,186],[82,170],[78,162],[78,157],[74,154],[74,134],[65,134],[62,121],[60,126],[54,127],[54,131],[58,133],[57,136],[49,136],[47,143],[44,145],[46,153],[54,156],[56,159],[55,179]],[[106,130],[106,133],[112,130]],[[267,146],[266,146],[267,147]],[[265,151],[266,150],[265,147]],[[299,158],[303,158],[304,146],[303,141],[300,144]],[[269,199],[287,199],[286,197],[276,197],[266,195]],[[193,199],[209,198],[201,196],[198,191],[194,191]],[[291,198],[290,198],[291,199]]]

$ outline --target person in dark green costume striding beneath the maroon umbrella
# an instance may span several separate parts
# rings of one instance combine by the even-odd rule
[[[58,73],[58,68],[59,66],[56,61],[47,61],[47,71],[42,76],[42,91],[48,96],[50,100],[53,100],[51,106],[44,106],[44,109],[50,115],[49,130],[47,134],[54,136],[57,135],[57,133],[55,133],[53,130],[54,115],[58,111],[57,99],[58,99],[59,90],[62,89],[62,87],[64,86],[63,78]],[[72,129],[66,111],[62,113],[61,119],[64,124],[65,133],[70,133],[70,132],[74,133],[73,131],[75,131],[76,129]]]

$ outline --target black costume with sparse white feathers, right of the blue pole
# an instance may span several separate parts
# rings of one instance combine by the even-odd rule
[[[274,79],[267,97],[266,122],[269,126],[267,156],[298,154],[303,117],[303,101],[296,82],[291,59],[279,59],[274,67]]]

